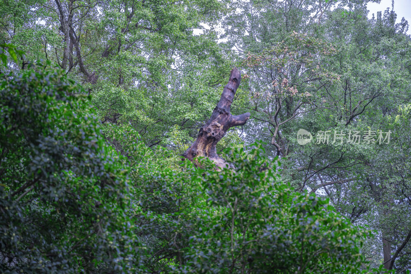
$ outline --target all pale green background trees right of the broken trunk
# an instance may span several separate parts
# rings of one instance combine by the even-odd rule
[[[376,229],[364,249],[373,266],[397,268],[395,258],[403,258],[407,263],[398,262],[397,269],[405,271],[409,230],[400,215],[410,211],[399,193],[406,193],[409,154],[401,153],[401,162],[391,157],[403,151],[397,136],[405,138],[407,127],[397,127],[399,135],[391,127],[405,119],[395,117],[410,99],[407,22],[396,23],[393,9],[368,20],[367,1],[237,3],[223,37],[249,76],[246,141],[266,140],[267,155],[281,157],[282,177],[296,189],[319,190],[352,222]],[[298,144],[298,129],[314,140]],[[315,133],[328,130],[329,144],[316,143]],[[389,144],[347,143],[350,131],[389,130]],[[332,143],[334,132],[346,134],[343,144]]]

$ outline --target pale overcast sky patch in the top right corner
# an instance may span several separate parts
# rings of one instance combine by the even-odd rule
[[[381,0],[380,4],[368,3],[367,9],[369,10],[368,18],[372,17],[372,13],[377,16],[377,11],[383,11],[389,8],[391,10],[392,0]],[[394,11],[397,13],[397,22],[401,22],[402,17],[411,24],[411,0],[394,0]],[[408,34],[411,34],[411,27],[408,27]]]

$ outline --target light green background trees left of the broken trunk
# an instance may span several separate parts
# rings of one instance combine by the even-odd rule
[[[25,57],[10,69],[58,64],[93,95],[104,123],[132,124],[151,147],[183,152],[230,69],[214,31],[193,34],[219,18],[218,1],[12,2],[0,6],[0,43]]]

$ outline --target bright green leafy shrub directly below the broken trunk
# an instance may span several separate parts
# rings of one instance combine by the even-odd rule
[[[366,232],[334,213],[328,200],[279,180],[260,145],[226,151],[236,170],[218,171],[205,159],[202,168],[185,161],[171,169],[166,151],[146,150],[144,158],[133,152],[136,135],[122,127],[113,140],[136,162],[135,224],[147,271],[360,272]]]

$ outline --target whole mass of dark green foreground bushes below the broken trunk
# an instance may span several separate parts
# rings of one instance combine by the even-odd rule
[[[4,273],[343,273],[365,232],[279,179],[255,143],[235,170],[149,149],[104,124],[64,71],[2,75],[0,270]]]

